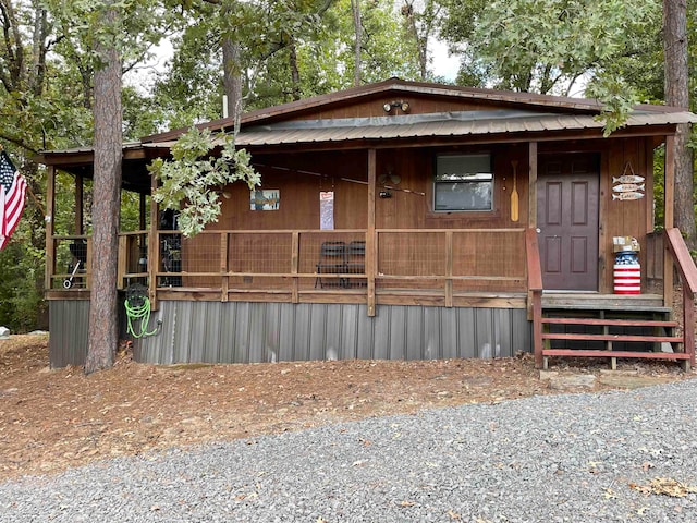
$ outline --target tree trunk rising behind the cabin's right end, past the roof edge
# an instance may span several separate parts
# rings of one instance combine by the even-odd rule
[[[663,53],[665,60],[665,104],[689,110],[687,84],[687,3],[663,0]],[[689,125],[677,125],[675,135],[675,227],[690,248],[696,246],[693,204],[693,153],[687,146]]]

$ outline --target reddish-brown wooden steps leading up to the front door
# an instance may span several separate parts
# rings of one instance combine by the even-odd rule
[[[670,308],[650,296],[552,296],[543,302],[536,326],[542,368],[548,368],[550,357],[560,356],[608,357],[612,369],[619,357],[671,360],[689,369],[685,340],[675,333],[678,323],[670,319]]]

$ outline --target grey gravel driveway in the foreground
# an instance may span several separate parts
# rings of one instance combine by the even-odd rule
[[[695,522],[696,399],[692,379],[105,461],[0,485],[0,522]]]

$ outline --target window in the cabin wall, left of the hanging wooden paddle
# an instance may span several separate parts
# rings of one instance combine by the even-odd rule
[[[491,155],[449,155],[436,158],[433,210],[493,210]]]

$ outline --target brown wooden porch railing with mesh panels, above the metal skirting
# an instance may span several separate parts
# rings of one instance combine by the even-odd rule
[[[120,234],[120,288],[154,281],[150,287],[160,293],[188,291],[222,301],[285,294],[298,302],[303,294],[313,295],[308,301],[329,292],[364,295],[371,279],[375,292],[436,294],[445,306],[457,293],[526,290],[524,229],[381,229],[372,242],[362,229],[204,231],[192,239],[178,231],[155,234],[155,253],[147,248],[148,231]],[[75,242],[84,242],[87,262],[88,236],[54,236],[51,289],[65,288]],[[327,253],[330,245],[338,251]],[[82,267],[68,289],[89,287],[89,264]]]

